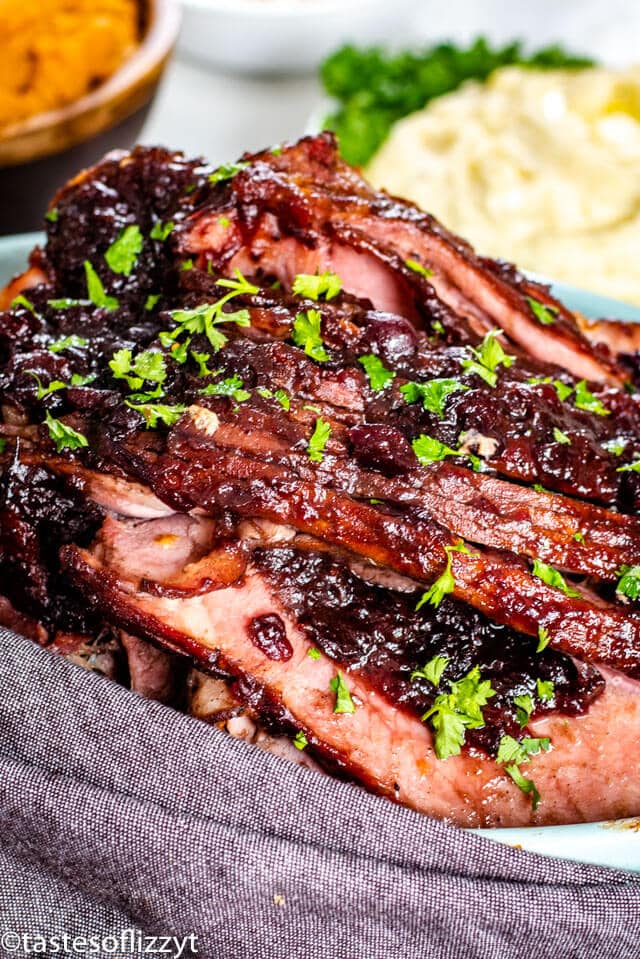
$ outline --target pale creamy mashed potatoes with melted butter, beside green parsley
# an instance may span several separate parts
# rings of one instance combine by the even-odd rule
[[[497,71],[397,123],[366,172],[482,253],[640,304],[640,67]]]

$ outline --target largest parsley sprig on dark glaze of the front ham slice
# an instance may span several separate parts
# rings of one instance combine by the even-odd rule
[[[448,693],[436,697],[431,709],[423,714],[434,732],[434,749],[438,759],[457,756],[465,741],[467,729],[485,725],[482,707],[495,696],[488,679],[482,679],[480,669],[474,666],[466,676],[449,683]]]

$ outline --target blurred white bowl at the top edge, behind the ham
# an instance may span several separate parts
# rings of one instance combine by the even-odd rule
[[[179,47],[234,72],[306,73],[343,43],[407,40],[413,0],[183,0]]]

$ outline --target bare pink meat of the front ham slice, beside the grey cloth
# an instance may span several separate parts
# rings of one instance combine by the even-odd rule
[[[335,714],[329,683],[336,665],[324,654],[307,655],[304,631],[256,570],[249,569],[235,587],[176,601],[137,590],[128,578],[137,576],[137,566],[125,556],[114,568],[105,567],[99,554],[75,548],[66,554],[88,599],[125,628],[188,652],[205,666],[215,663],[251,677],[319,755],[390,799],[465,826],[608,819],[639,808],[640,696],[638,684],[620,674],[607,674],[607,689],[586,716],[550,716],[532,724],[532,734],[549,736],[553,744],[525,768],[543,797],[533,811],[493,760],[469,753],[438,760],[427,725],[357,673],[345,670],[355,712]],[[252,622],[274,613],[286,629],[286,659],[270,659],[250,638]]]

